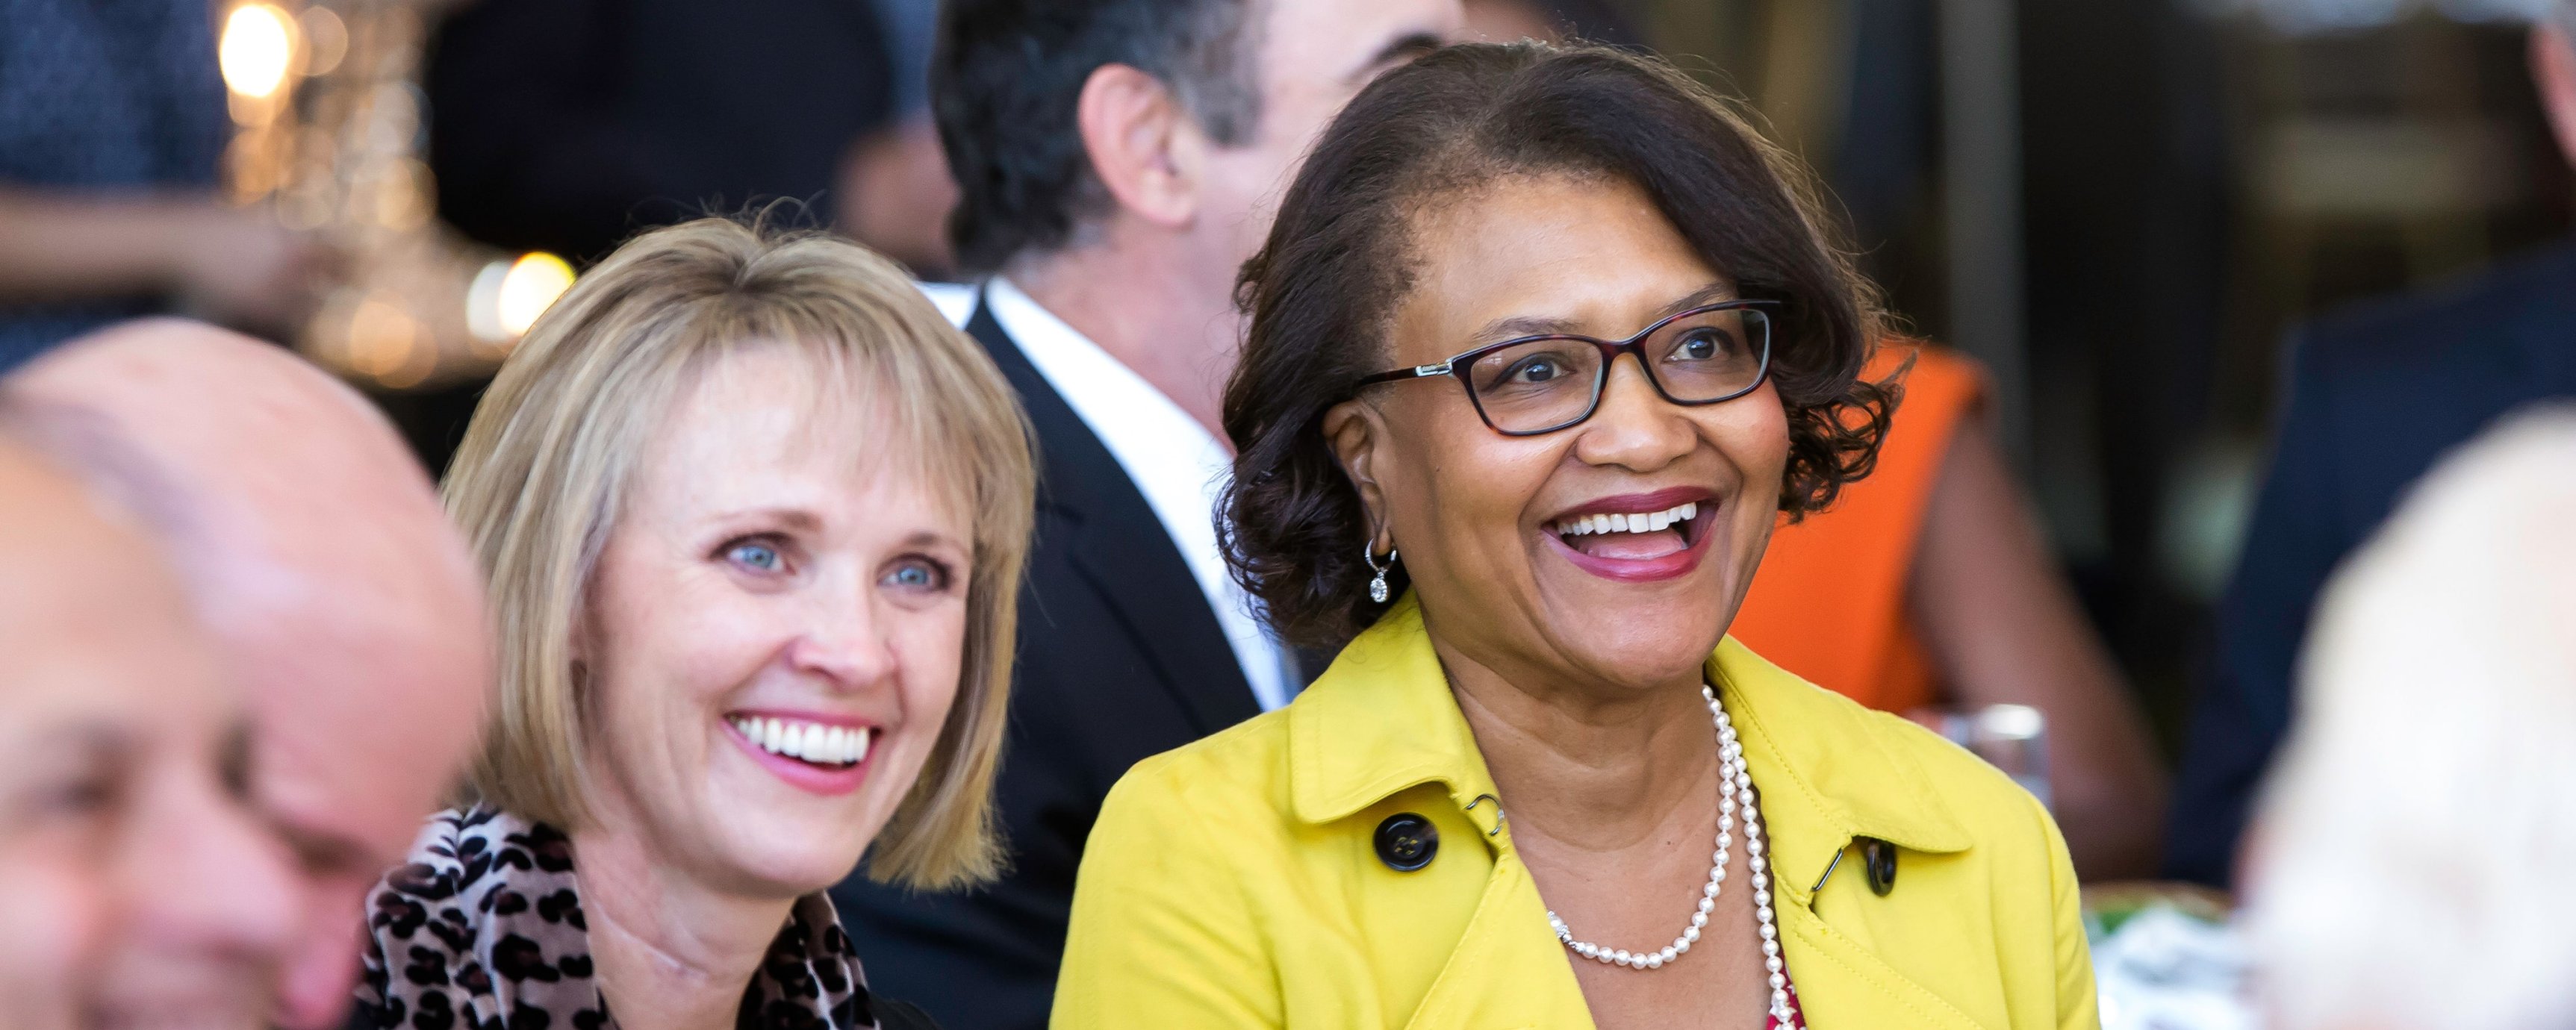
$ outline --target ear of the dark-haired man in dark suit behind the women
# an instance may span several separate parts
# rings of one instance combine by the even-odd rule
[[[1123,211],[1167,229],[1190,224],[1208,142],[1162,80],[1131,64],[1095,67],[1074,100],[1074,126],[1092,175]]]

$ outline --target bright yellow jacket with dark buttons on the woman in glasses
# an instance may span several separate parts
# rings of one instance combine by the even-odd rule
[[[2030,793],[1734,639],[1708,675],[1762,791],[1811,1027],[2097,1027],[2074,868]],[[1404,600],[1293,706],[1118,780],[1082,857],[1054,1025],[1589,1027],[1510,821],[1476,803],[1489,793]],[[1373,842],[1401,811],[1440,832],[1414,873]],[[1888,896],[1860,837],[1896,845]]]

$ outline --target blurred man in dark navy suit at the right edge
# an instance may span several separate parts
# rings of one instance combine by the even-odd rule
[[[2532,77],[2576,160],[2571,31],[2576,0],[2555,0],[2555,21],[2532,28]],[[2213,886],[2233,881],[2326,577],[2445,451],[2519,404],[2576,397],[2576,245],[2318,322],[2293,340],[2287,384],[2272,474],[2218,605],[2218,670],[2174,783],[2166,876]]]

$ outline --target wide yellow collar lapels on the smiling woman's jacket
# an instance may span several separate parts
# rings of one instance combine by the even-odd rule
[[[1762,791],[1780,891],[1798,904],[1855,837],[1919,852],[1968,850],[1968,832],[1924,785],[1922,767],[1888,747],[1893,716],[1798,680],[1734,639],[1708,657],[1708,677]],[[1414,595],[1350,641],[1288,706],[1288,742],[1291,803],[1309,824],[1422,783],[1445,783],[1461,809],[1494,793]]]

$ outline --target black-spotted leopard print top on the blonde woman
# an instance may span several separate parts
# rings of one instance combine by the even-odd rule
[[[379,1030],[616,1030],[590,968],[572,839],[495,809],[440,811],[368,901],[358,1020]],[[876,1030],[832,899],[796,899],[739,1030]]]

